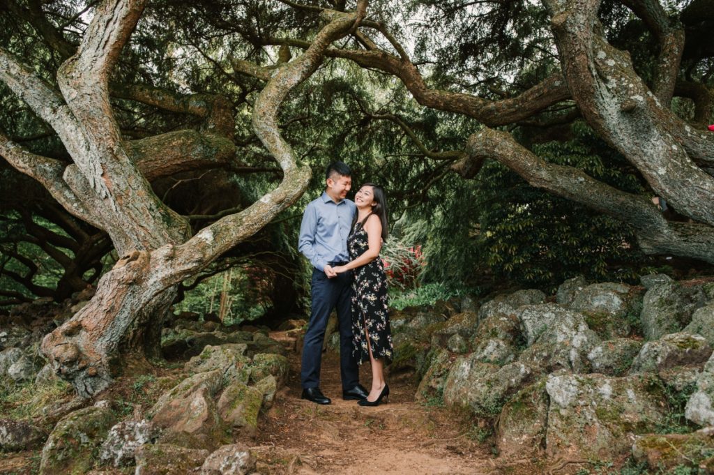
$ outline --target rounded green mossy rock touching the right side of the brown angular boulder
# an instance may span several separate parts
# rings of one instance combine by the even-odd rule
[[[239,381],[233,382],[218,399],[221,419],[242,436],[253,437],[258,429],[258,414],[263,406],[263,393]]]

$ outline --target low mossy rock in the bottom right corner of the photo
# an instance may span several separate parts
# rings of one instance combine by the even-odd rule
[[[704,469],[698,473],[710,474],[714,469],[714,428],[692,434],[638,436],[632,446],[632,454],[635,461],[646,462],[650,469],[658,473],[669,473],[681,466]]]

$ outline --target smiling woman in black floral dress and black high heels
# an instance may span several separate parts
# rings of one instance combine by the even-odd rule
[[[348,264],[335,271],[354,269],[352,281],[353,352],[357,362],[372,365],[372,388],[360,406],[386,402],[389,386],[384,380],[384,365],[392,360],[392,335],[387,316],[387,276],[379,251],[387,240],[387,204],[381,186],[366,183],[355,196],[357,214],[347,239]]]

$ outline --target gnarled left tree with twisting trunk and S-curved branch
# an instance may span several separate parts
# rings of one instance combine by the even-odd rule
[[[0,79],[56,131],[72,163],[33,154],[5,135],[0,136],[0,154],[41,182],[71,214],[106,231],[121,256],[102,276],[89,304],[42,343],[51,364],[80,396],[104,389],[120,356],[141,356],[150,344],[155,346],[160,316],[183,279],[254,234],[301,196],[310,170],[297,163],[281,136],[278,106],[317,69],[327,46],[354,29],[366,10],[366,4],[360,4],[356,13],[326,11],[311,46],[276,69],[256,99],[253,132],[281,167],[281,183],[243,211],[191,236],[186,218],[154,194],[147,177],[165,173],[167,167],[185,166],[186,161],[210,161],[218,156],[216,149],[231,149],[233,117],[220,98],[175,98],[129,87],[127,94],[146,94],[146,102],[198,109],[207,126],[201,132],[174,131],[135,142],[122,136],[111,104],[110,79],[145,4],[109,0],[97,6],[76,52],[59,67],[56,87],[9,49],[0,49]],[[48,29],[47,41],[64,45],[66,41],[55,37],[54,26],[35,16],[41,11],[39,4],[34,6],[38,11],[31,11],[29,19],[39,24],[33,26]],[[65,53],[71,50],[69,45],[63,48]],[[182,153],[191,148],[199,149],[198,156]]]

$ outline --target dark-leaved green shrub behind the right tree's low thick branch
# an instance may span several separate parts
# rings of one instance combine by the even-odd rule
[[[626,162],[582,124],[575,139],[534,147],[553,164],[573,166],[611,186],[643,193]],[[481,170],[479,194],[491,196],[480,214],[478,247],[496,276],[525,285],[555,286],[583,274],[633,281],[645,258],[621,221],[548,194],[496,162]]]

